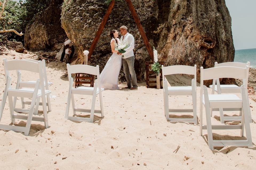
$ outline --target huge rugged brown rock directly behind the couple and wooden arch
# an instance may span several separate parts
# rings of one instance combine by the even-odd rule
[[[197,65],[209,68],[234,60],[231,17],[224,0],[132,0],[146,35],[158,50],[158,60],[169,65]],[[62,6],[62,28],[78,47],[78,63],[83,50],[90,48],[107,10],[102,0],[65,1]],[[145,80],[145,61],[150,61],[125,1],[116,2],[99,42],[89,60],[102,70],[111,56],[109,32],[126,25],[135,38],[135,71]],[[124,79],[121,71],[121,78]],[[121,79],[122,80],[122,79]],[[199,74],[198,74],[198,81]]]

